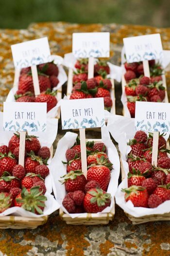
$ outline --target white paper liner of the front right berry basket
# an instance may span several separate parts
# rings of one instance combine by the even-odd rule
[[[131,147],[127,145],[129,139],[134,138],[135,130],[135,119],[134,118],[125,118],[122,116],[113,116],[110,115],[107,122],[107,127],[112,137],[118,142],[119,150],[121,153],[121,161],[123,165],[124,172],[126,177],[120,183],[118,191],[115,195],[116,203],[129,215],[134,217],[149,216],[153,214],[164,214],[170,213],[170,200],[165,201],[160,204],[157,208],[144,208],[144,207],[134,207],[133,203],[129,200],[128,202],[124,199],[124,192],[121,192],[122,188],[127,188],[127,174],[129,172],[129,166],[126,162],[127,154],[131,151]],[[165,136],[165,139],[169,138],[170,134]]]

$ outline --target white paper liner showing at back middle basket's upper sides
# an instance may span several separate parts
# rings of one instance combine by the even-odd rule
[[[94,64],[96,64],[97,59],[94,59]],[[76,68],[74,67],[76,63],[76,58],[73,56],[72,53],[67,53],[64,56],[63,65],[67,68],[71,68],[74,71],[76,71]],[[110,62],[107,62],[110,68],[110,74],[107,75],[108,78],[115,79],[118,82],[121,82],[121,76],[122,76],[122,67],[116,66]]]

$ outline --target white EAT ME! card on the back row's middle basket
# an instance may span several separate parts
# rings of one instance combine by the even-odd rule
[[[72,52],[76,58],[109,57],[110,33],[73,33]]]

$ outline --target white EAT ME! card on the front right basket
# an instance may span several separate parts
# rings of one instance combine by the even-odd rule
[[[135,128],[170,132],[170,103],[136,101]]]

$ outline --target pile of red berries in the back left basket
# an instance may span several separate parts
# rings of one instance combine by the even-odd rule
[[[37,70],[40,95],[34,96],[31,67],[22,68],[15,100],[17,102],[47,102],[47,112],[49,112],[57,104],[56,91],[52,90],[59,83],[58,67],[53,62],[48,62],[38,65]]]

